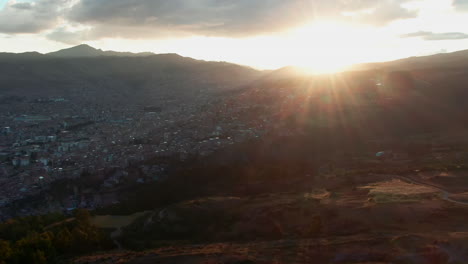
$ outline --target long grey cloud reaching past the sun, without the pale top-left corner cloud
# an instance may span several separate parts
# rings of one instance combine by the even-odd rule
[[[409,0],[81,0],[67,15],[89,26],[88,38],[164,38],[183,35],[247,37],[296,27],[321,17],[382,26],[415,17]],[[370,10],[370,12],[360,12]],[[68,32],[72,34],[71,32]],[[64,31],[50,38],[72,38]]]

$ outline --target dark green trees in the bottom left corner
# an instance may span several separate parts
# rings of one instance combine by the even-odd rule
[[[113,247],[108,236],[91,225],[88,211],[77,210],[74,221],[65,220],[51,214],[1,223],[0,263],[63,263],[64,257]]]

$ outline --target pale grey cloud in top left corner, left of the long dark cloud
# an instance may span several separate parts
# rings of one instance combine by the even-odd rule
[[[9,1],[0,10],[0,33],[38,33],[54,27],[68,0]]]

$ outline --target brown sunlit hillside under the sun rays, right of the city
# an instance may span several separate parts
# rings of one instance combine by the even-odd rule
[[[136,251],[76,263],[463,263],[467,70],[267,76],[218,117],[265,134],[122,192]]]

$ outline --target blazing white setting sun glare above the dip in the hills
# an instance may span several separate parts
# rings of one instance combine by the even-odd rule
[[[290,32],[290,55],[295,66],[307,73],[332,73],[361,62],[369,38],[351,25],[334,21],[314,22]]]

